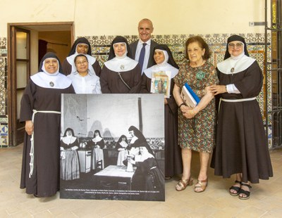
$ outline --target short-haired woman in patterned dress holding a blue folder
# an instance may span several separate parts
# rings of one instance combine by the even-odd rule
[[[199,193],[207,187],[207,166],[210,153],[214,148],[215,102],[209,86],[218,84],[214,66],[207,60],[210,57],[209,46],[199,36],[191,37],[185,44],[186,57],[180,65],[178,75],[174,77],[173,96],[178,104],[178,144],[183,160],[183,175],[177,191],[183,191],[192,185],[190,174],[192,150],[200,153],[200,173],[195,185]],[[195,108],[183,102],[180,92],[185,83],[195,91],[201,101]]]

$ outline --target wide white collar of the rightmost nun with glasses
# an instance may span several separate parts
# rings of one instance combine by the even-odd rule
[[[221,63],[217,64],[217,68],[224,74],[234,74],[246,70],[254,62],[254,58],[250,58],[243,54],[243,56],[240,56],[239,58],[230,57],[223,60]]]

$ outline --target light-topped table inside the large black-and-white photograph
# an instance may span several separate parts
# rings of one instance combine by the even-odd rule
[[[94,174],[94,180],[97,182],[98,189],[101,181],[111,181],[113,183],[126,183],[128,190],[131,191],[131,182],[134,172],[127,172],[126,166],[109,165],[97,174]]]

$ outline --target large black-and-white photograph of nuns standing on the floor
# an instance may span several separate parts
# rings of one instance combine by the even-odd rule
[[[164,201],[164,94],[63,94],[60,198]]]

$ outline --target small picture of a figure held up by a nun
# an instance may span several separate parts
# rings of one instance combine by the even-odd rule
[[[171,72],[153,72],[150,92],[164,94],[165,98],[169,98],[171,93]]]

